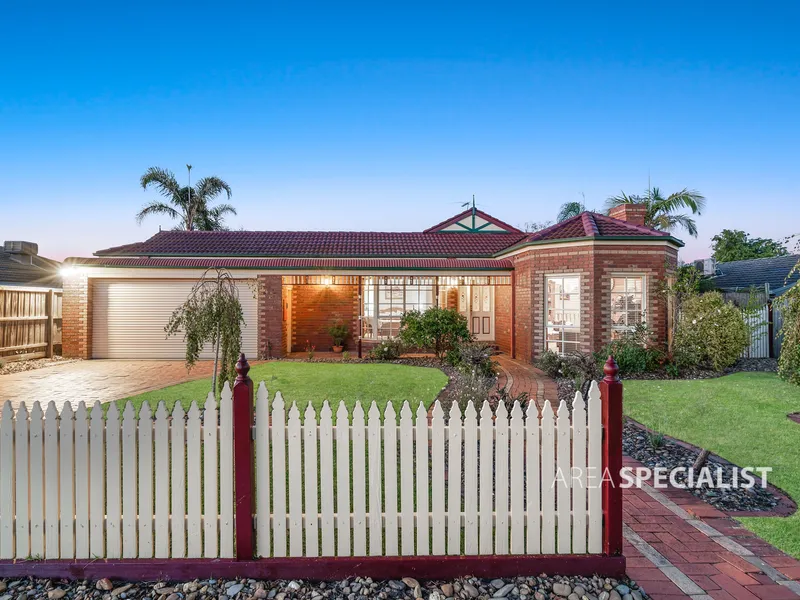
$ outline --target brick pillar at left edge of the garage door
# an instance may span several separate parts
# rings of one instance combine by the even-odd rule
[[[85,273],[64,277],[61,352],[67,358],[92,358],[92,280]]]

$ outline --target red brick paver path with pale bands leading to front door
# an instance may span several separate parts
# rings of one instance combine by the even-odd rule
[[[528,391],[540,406],[557,401],[555,383],[542,371],[497,358],[512,394]],[[625,464],[640,466],[628,457]],[[628,576],[653,600],[800,598],[800,561],[689,492],[642,482],[623,499]]]

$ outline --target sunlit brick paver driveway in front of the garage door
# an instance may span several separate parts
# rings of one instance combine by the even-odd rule
[[[187,373],[183,361],[82,360],[34,371],[0,375],[0,405],[35,400],[43,405],[55,401],[60,410],[65,401],[87,405],[111,402],[167,385],[209,377],[213,362],[201,361]]]

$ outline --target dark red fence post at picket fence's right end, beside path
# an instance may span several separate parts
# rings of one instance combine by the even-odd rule
[[[622,382],[609,356],[600,382],[603,406],[603,554],[622,554]]]

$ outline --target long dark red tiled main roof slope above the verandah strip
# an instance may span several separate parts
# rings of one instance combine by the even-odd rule
[[[97,256],[428,256],[489,257],[522,233],[378,233],[371,231],[162,231]]]

